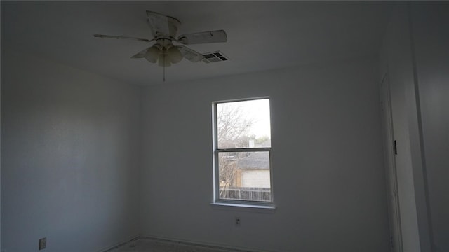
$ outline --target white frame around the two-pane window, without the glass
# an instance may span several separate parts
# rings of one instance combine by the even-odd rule
[[[213,204],[227,205],[235,207],[256,207],[256,208],[266,208],[274,209],[274,190],[273,190],[273,165],[272,165],[272,147],[264,148],[218,148],[217,139],[217,104],[227,103],[227,102],[245,102],[258,99],[270,99],[269,97],[255,97],[246,99],[232,99],[225,101],[217,101],[212,103],[212,116],[213,116]],[[271,102],[271,99],[270,99]],[[269,106],[270,110],[270,128],[272,125],[272,113],[271,113],[271,103]],[[272,139],[270,132],[270,140]],[[271,146],[271,145],[270,145]],[[218,155],[219,153],[237,153],[237,152],[255,152],[255,151],[267,151],[269,153],[269,176],[270,176],[270,201],[254,201],[254,200],[231,200],[231,199],[220,199],[220,178],[219,178],[219,167],[218,167]]]

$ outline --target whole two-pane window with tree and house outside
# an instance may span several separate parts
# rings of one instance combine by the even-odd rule
[[[215,202],[271,204],[269,99],[213,105]]]

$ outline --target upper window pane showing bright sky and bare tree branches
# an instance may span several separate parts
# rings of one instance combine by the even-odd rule
[[[217,146],[271,147],[269,99],[217,104]]]

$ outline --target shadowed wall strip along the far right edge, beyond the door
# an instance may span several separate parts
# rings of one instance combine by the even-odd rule
[[[411,3],[432,251],[449,251],[449,3]]]

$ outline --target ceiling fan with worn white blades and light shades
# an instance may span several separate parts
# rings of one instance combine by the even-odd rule
[[[142,42],[156,41],[154,45],[138,52],[131,58],[145,58],[149,62],[157,62],[159,66],[164,68],[171,66],[172,63],[175,64],[180,62],[182,58],[186,58],[191,62],[199,62],[204,59],[204,56],[201,53],[187,48],[184,45],[227,41],[227,35],[224,30],[182,34],[175,38],[177,30],[181,25],[180,20],[154,11],[147,10],[147,23],[152,31],[152,39],[102,34],[95,34],[93,36],[95,36],[95,38],[124,38]],[[173,45],[173,42],[181,43],[183,45]]]

